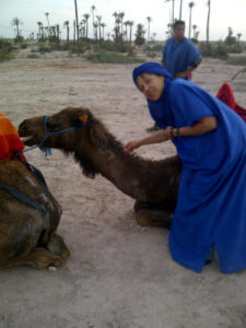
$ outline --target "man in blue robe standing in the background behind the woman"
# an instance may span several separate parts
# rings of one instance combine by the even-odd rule
[[[191,72],[201,63],[201,54],[191,40],[185,37],[185,22],[176,21],[174,36],[171,37],[162,50],[162,65],[175,78],[191,79]],[[148,132],[159,130],[154,124]]]

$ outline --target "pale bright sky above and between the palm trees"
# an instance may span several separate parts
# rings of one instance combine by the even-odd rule
[[[188,34],[189,8],[191,0],[183,0],[183,16],[186,21]],[[147,17],[151,17],[151,35],[156,34],[155,39],[165,40],[167,24],[172,15],[172,1],[165,0],[77,0],[79,20],[83,14],[91,15],[91,7],[95,5],[95,15],[101,15],[106,24],[105,35],[113,34],[115,19],[114,12],[125,12],[125,21],[133,21],[143,24],[147,28]],[[192,0],[191,25],[197,25],[199,39],[206,39],[206,24],[208,14],[208,0]],[[175,17],[179,16],[180,0],[175,0]],[[14,37],[11,22],[17,17],[23,22],[21,34],[27,37],[32,32],[37,33],[37,22],[47,26],[45,13],[49,13],[50,25],[61,26],[61,36],[66,38],[63,22],[69,20],[70,25],[74,20],[74,0],[1,0],[0,1],[0,37]],[[90,25],[91,23],[91,25]],[[234,35],[241,33],[242,40],[246,40],[246,0],[211,0],[210,40],[224,39],[227,27],[232,27]],[[92,36],[92,19],[89,19],[89,36]],[[133,30],[134,33],[134,30]],[[147,37],[147,35],[145,35]]]

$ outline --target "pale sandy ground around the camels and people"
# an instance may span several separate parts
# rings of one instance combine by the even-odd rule
[[[157,60],[157,59],[156,59]],[[124,143],[152,125],[131,81],[133,65],[91,65],[54,52],[26,52],[0,63],[0,110],[17,125],[66,106],[87,106]],[[215,94],[239,67],[204,59],[194,81]],[[246,75],[232,84],[246,105]],[[161,159],[167,142],[138,151]],[[71,258],[56,272],[20,267],[0,271],[0,328],[246,327],[246,272],[222,274],[215,260],[201,274],[177,265],[168,231],[140,227],[133,200],[108,180],[84,177],[78,164],[54,151],[26,153],[63,208],[58,229]]]

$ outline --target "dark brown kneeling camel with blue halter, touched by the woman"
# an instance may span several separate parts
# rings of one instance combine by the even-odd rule
[[[67,107],[49,117],[28,118],[19,126],[19,133],[25,145],[42,143],[72,154],[85,176],[94,178],[99,173],[109,179],[136,200],[138,224],[171,226],[183,168],[177,155],[152,161],[125,153],[122,144],[84,107]]]

